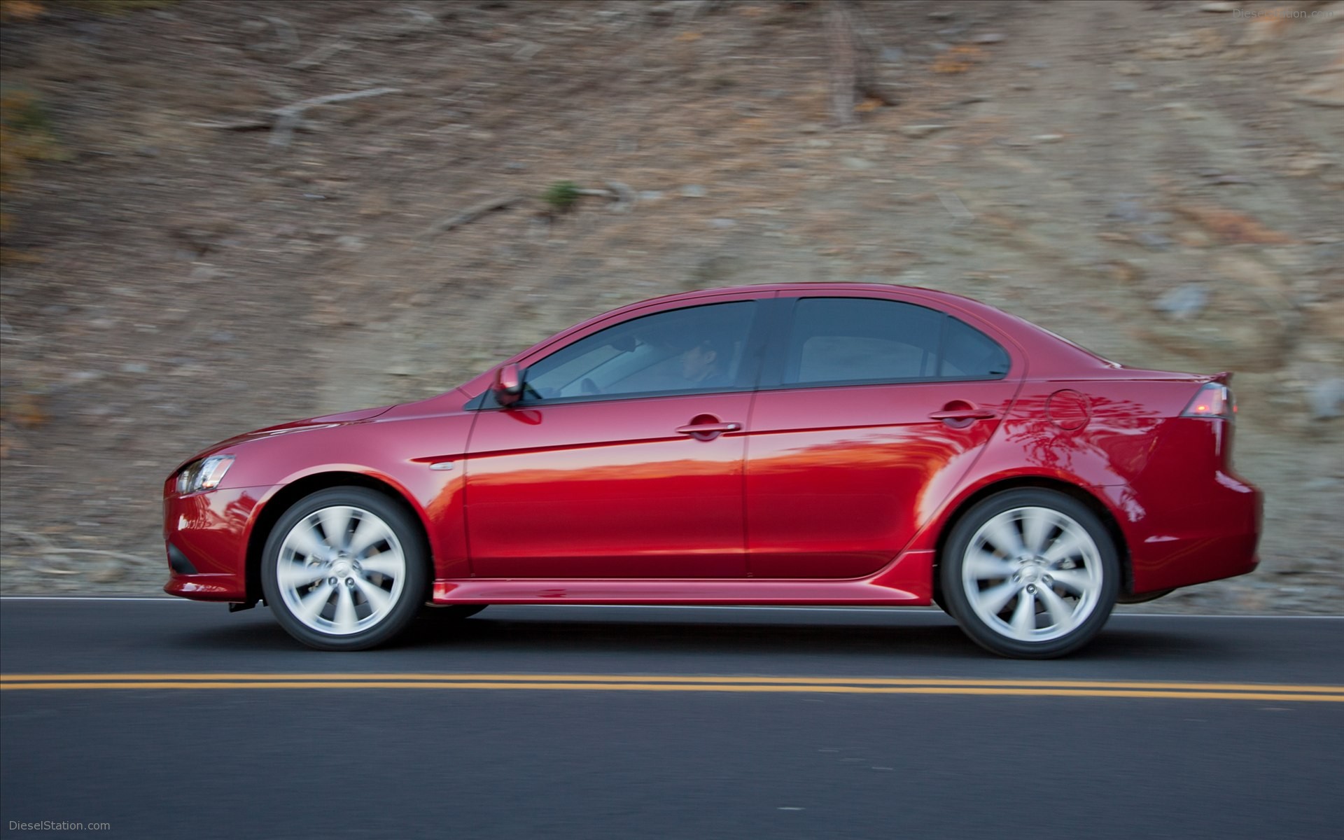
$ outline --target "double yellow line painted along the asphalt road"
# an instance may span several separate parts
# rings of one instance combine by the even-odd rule
[[[1019,695],[1344,703],[1344,685],[586,673],[4,673],[4,691],[216,688],[439,688],[515,691],[732,691],[762,694]]]

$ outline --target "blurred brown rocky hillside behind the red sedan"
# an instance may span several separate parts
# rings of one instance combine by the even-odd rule
[[[1337,612],[1344,4],[864,8],[900,103],[849,130],[820,3],[5,26],[65,160],[4,202],[4,591],[153,593],[160,482],[224,435],[418,399],[660,293],[876,280],[1236,371],[1265,563],[1152,609]],[[560,180],[610,195],[555,215]]]

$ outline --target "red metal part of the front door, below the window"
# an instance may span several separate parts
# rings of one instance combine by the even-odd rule
[[[481,411],[468,449],[472,570],[491,578],[745,578],[751,394]],[[710,421],[708,418],[714,418]]]

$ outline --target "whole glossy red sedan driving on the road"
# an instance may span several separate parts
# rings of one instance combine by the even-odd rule
[[[789,284],[624,306],[423,402],[253,431],[164,485],[165,591],[321,649],[430,602],[937,602],[989,650],[1255,569],[1228,374],[965,297]]]

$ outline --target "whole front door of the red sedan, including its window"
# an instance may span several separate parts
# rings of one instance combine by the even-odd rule
[[[465,496],[476,577],[746,577],[761,304],[711,300],[546,348],[523,360],[520,402],[481,409]]]

